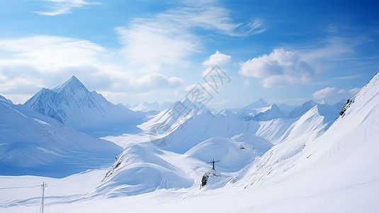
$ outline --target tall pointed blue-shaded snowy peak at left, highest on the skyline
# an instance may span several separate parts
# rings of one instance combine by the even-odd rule
[[[75,76],[54,89],[41,89],[24,105],[86,133],[113,132],[120,127],[135,131],[130,121],[138,117],[122,104],[114,105],[101,94],[89,92]]]

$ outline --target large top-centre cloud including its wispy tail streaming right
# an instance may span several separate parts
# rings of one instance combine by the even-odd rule
[[[202,39],[193,32],[198,28],[230,36],[264,32],[261,19],[234,23],[230,11],[218,6],[179,7],[154,18],[135,18],[115,32],[128,60],[155,67],[157,72],[162,64],[186,64],[186,56],[202,50]]]

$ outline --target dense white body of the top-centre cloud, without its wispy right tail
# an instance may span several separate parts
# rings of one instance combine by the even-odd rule
[[[115,31],[125,45],[121,53],[132,63],[154,67],[150,70],[153,72],[159,70],[162,63],[185,63],[183,58],[200,50],[193,35],[181,33],[169,26],[135,22],[130,28],[119,27]]]

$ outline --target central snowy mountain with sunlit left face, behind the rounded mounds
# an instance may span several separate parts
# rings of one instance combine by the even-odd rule
[[[186,106],[186,111],[177,114],[174,106]],[[186,153],[208,138],[230,138],[239,133],[255,133],[259,129],[257,121],[245,121],[236,114],[214,115],[206,107],[198,111],[188,100],[176,102],[174,106],[138,126],[149,132],[152,143],[166,151]]]

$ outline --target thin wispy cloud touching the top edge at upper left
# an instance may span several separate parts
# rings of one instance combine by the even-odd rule
[[[83,0],[44,0],[52,3],[51,11],[36,11],[40,15],[44,16],[57,16],[64,13],[71,13],[73,8],[86,6],[90,4],[98,4],[95,2],[88,2]]]

